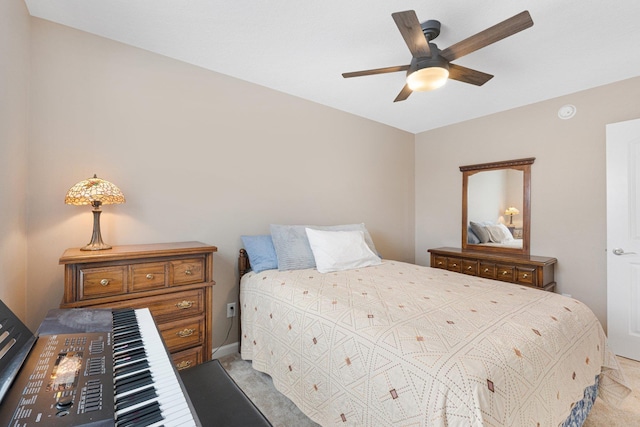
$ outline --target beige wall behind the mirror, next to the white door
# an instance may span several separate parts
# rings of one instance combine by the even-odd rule
[[[577,114],[560,120],[558,108]],[[606,325],[605,125],[640,117],[640,78],[416,136],[416,262],[461,244],[459,166],[535,157],[531,254],[558,258],[558,291]]]

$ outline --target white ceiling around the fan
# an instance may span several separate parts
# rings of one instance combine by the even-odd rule
[[[638,0],[25,0],[32,16],[418,133],[640,75]],[[494,74],[394,103],[405,65],[391,18],[442,23],[444,49],[529,10],[534,26],[457,59]]]

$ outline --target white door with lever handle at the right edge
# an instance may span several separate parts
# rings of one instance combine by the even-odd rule
[[[607,125],[607,335],[640,360],[640,119]]]

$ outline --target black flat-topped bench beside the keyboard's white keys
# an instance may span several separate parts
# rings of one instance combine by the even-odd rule
[[[271,426],[217,359],[179,373],[203,426]]]

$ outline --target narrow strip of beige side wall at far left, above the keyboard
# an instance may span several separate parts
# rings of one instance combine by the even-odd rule
[[[27,139],[30,18],[0,2],[0,299],[26,320]]]

